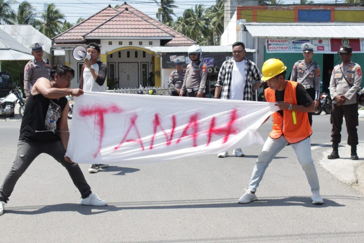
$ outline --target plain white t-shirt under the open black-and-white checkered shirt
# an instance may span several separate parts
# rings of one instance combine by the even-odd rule
[[[235,62],[230,83],[229,99],[243,100],[245,89],[245,60]]]

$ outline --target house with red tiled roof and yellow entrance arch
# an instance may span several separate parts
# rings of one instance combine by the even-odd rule
[[[110,5],[53,38],[54,50],[65,51],[66,65],[77,70],[72,87],[78,87],[82,61],[72,56],[75,46],[96,42],[101,46],[100,60],[107,63],[108,82],[116,87],[138,87],[149,73],[161,85],[161,60],[150,46],[190,46],[195,42],[170,27],[131,7]],[[76,82],[77,81],[77,82]]]

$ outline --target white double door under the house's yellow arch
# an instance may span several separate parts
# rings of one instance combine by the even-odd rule
[[[138,63],[119,63],[119,87],[136,88],[138,86]]]

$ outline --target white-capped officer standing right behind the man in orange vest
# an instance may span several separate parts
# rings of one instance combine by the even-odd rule
[[[302,44],[301,49],[303,50],[304,59],[294,63],[290,81],[296,81],[303,85],[306,92],[313,99],[316,108],[320,99],[320,67],[316,62],[312,62],[312,44]],[[312,126],[312,112],[308,112],[308,120]]]

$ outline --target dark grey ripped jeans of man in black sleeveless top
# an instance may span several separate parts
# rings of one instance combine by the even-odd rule
[[[50,142],[19,141],[13,166],[0,188],[0,201],[6,203],[9,200],[9,196],[13,192],[15,184],[20,176],[23,175],[28,166],[41,153],[49,154],[67,169],[73,183],[80,191],[82,198],[86,198],[90,195],[91,188],[87,184],[80,166],[78,164],[72,165],[64,160],[65,151],[61,140]]]

